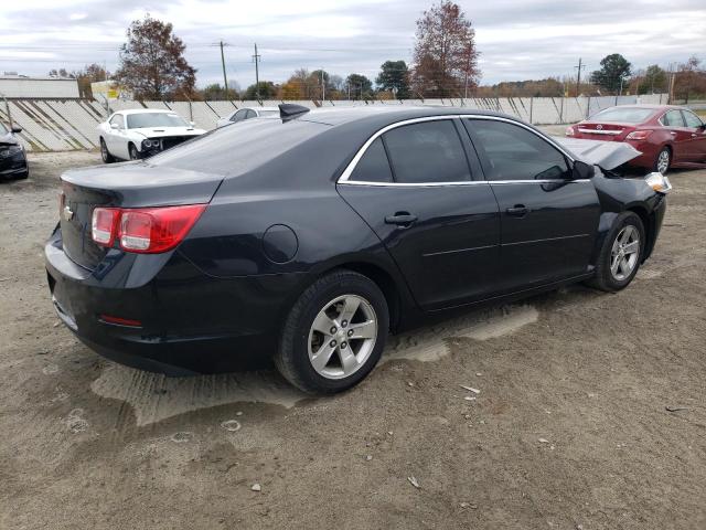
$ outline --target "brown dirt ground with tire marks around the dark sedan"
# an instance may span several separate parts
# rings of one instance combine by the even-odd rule
[[[0,528],[706,528],[706,171],[673,172],[627,290],[395,337],[356,389],[304,399],[124,368],[58,324],[43,242],[60,173],[94,162],[0,183]]]

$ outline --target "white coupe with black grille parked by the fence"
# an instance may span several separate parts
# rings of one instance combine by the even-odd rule
[[[120,110],[98,125],[100,156],[106,163],[139,160],[204,132],[172,110]]]

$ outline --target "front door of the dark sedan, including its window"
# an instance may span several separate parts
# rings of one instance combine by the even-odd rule
[[[600,205],[589,180],[573,180],[567,157],[528,127],[464,119],[501,219],[503,293],[588,271]]]

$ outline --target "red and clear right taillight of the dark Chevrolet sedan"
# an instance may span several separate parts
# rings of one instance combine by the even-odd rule
[[[117,240],[127,252],[156,254],[175,247],[199,220],[205,204],[162,208],[96,208],[93,241],[113,246]]]

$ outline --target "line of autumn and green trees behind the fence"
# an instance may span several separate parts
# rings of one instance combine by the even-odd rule
[[[228,89],[220,83],[196,88],[196,70],[184,52],[185,44],[173,33],[171,23],[150,15],[133,21],[127,42],[120,47],[120,65],[113,73],[97,64],[83,71],[65,70],[50,74],[78,81],[82,97],[90,97],[90,83],[110,77],[136,99],[217,100],[217,99],[408,99],[463,97],[521,97],[650,94],[668,92],[673,76],[676,98],[706,96],[706,72],[693,56],[674,73],[656,64],[633,70],[619,53],[603,57],[600,67],[578,84],[576,78],[548,77],[503,82],[480,86],[480,52],[475,31],[463,10],[449,0],[440,0],[421,13],[416,23],[413,64],[403,60],[385,61],[375,80],[360,73],[345,77],[324,70],[296,70],[285,83],[260,81],[240,89],[228,80]]]

